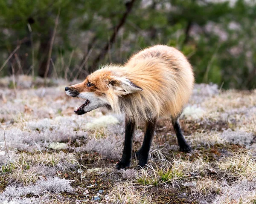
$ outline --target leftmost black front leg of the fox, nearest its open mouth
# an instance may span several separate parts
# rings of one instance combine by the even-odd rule
[[[135,129],[135,122],[125,118],[125,144],[124,150],[122,153],[121,161],[116,164],[116,168],[124,169],[125,167],[130,166],[131,160],[131,148],[132,148],[132,139]]]

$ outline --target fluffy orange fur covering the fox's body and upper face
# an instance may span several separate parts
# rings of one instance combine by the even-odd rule
[[[123,89],[127,91],[123,79],[138,88],[131,87],[131,93],[122,94]],[[95,87],[86,87],[88,81]],[[193,84],[192,67],[186,57],[173,47],[157,45],[138,52],[122,66],[104,66],[72,87],[79,92],[93,91],[108,101],[114,112],[145,121],[159,116],[177,119],[192,94]]]

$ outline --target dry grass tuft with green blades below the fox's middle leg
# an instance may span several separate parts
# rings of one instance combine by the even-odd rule
[[[151,161],[145,168],[138,170],[133,183],[148,187],[169,184],[177,187],[180,181],[203,178],[207,175],[207,169],[209,163],[204,159],[187,161],[180,157],[164,158],[157,163]]]

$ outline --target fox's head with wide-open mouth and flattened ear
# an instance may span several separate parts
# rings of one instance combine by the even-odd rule
[[[103,106],[120,112],[119,98],[140,91],[143,89],[124,75],[104,68],[87,76],[82,83],[65,87],[67,95],[85,100],[79,108],[76,108],[77,115]]]

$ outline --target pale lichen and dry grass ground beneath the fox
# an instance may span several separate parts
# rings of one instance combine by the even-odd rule
[[[0,80],[0,203],[256,203],[256,91],[196,84],[180,117],[193,152],[178,151],[162,118],[148,166],[135,169],[133,157],[118,171],[123,116],[75,115],[82,101],[65,95],[64,81],[42,84],[19,77],[15,94]],[[139,125],[134,151],[142,140]]]

